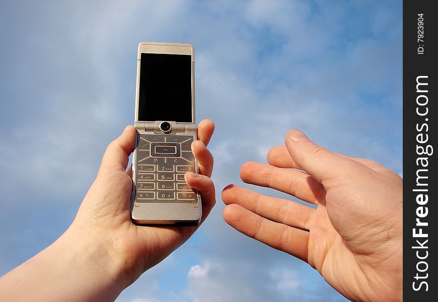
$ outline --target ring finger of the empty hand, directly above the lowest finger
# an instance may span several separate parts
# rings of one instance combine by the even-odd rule
[[[315,209],[294,201],[261,195],[257,192],[229,185],[222,191],[225,204],[239,204],[269,220],[294,228],[309,230],[307,223]]]

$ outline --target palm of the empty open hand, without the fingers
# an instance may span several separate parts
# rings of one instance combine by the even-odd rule
[[[367,192],[365,186],[357,186],[355,182],[349,186],[339,185],[336,179],[326,182],[331,188],[319,203],[315,220],[310,222],[309,251],[320,252],[309,259],[315,259],[315,268],[327,282],[348,293],[349,298],[390,301],[398,298],[399,284],[391,276],[401,276],[402,254],[394,242],[402,239],[400,225],[388,217],[401,218],[395,200],[401,198],[402,181],[377,163],[357,161],[372,170],[368,170],[372,178],[364,177],[363,181],[374,183],[374,192]],[[352,198],[351,189],[360,196],[368,194],[369,200]],[[392,196],[391,200],[385,199],[385,194]],[[340,206],[340,200],[347,205]],[[361,213],[361,219],[357,212]],[[316,225],[322,226],[324,233],[316,232],[313,236]]]

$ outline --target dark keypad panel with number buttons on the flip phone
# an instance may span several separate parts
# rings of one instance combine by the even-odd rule
[[[135,202],[198,201],[184,179],[196,171],[192,142],[186,135],[137,135]]]

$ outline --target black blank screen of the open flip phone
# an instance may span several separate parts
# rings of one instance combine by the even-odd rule
[[[192,122],[190,55],[142,53],[139,121]]]

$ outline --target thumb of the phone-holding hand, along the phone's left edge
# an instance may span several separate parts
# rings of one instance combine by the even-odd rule
[[[135,140],[135,128],[127,126],[122,134],[113,140],[102,158],[98,175],[112,171],[125,171],[128,165],[129,155],[132,153]]]

